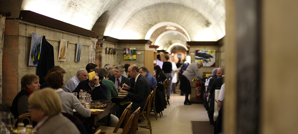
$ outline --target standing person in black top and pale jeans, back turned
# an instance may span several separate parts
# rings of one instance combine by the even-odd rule
[[[169,79],[169,87],[168,87],[168,97],[170,98],[171,96],[171,91],[172,91],[172,79],[173,79],[173,74],[172,74],[172,63],[169,62],[170,57],[169,55],[164,56],[164,64],[162,65],[162,70],[164,71],[164,74],[168,77]]]

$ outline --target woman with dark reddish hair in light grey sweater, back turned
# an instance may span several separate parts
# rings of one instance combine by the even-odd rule
[[[91,110],[89,105],[85,107],[81,105],[80,101],[72,93],[66,93],[63,91],[63,74],[60,71],[55,71],[49,73],[44,80],[49,82],[51,88],[53,88],[59,95],[62,103],[62,112],[73,114],[73,109],[75,109],[83,117],[90,117]]]

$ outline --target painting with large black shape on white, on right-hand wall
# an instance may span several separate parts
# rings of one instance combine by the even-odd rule
[[[215,50],[195,50],[195,63],[198,62],[203,66],[215,66]]]

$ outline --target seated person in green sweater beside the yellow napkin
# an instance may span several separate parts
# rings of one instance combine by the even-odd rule
[[[105,68],[99,68],[99,70],[103,73],[103,84],[105,84],[108,87],[108,98],[112,99],[118,97],[118,90],[115,88],[114,83],[111,80],[105,79],[108,76],[108,71]]]

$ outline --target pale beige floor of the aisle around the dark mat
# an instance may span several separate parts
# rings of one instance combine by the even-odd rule
[[[179,90],[179,89],[178,89]],[[150,116],[152,134],[190,134],[190,121],[209,121],[207,111],[202,104],[184,105],[185,96],[171,94],[170,105],[164,109],[163,116],[156,121]],[[138,125],[146,125],[146,121]],[[137,134],[150,134],[148,129],[139,128]]]

